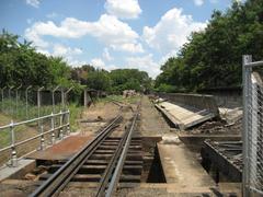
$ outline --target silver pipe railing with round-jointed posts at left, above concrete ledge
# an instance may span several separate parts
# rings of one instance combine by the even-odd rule
[[[62,118],[64,116],[67,116],[67,118]],[[53,114],[52,113],[50,115],[33,118],[33,119],[25,120],[25,121],[14,123],[13,120],[11,120],[11,123],[9,125],[0,127],[0,132],[3,129],[10,129],[10,137],[11,137],[11,144],[0,149],[0,153],[5,151],[5,150],[12,150],[12,153],[11,153],[11,166],[13,166],[13,167],[18,166],[16,147],[19,147],[21,144],[24,144],[24,143],[26,143],[28,141],[32,141],[34,139],[41,138],[41,150],[43,150],[44,149],[44,144],[45,144],[44,136],[47,135],[47,134],[50,134],[50,132],[52,132],[52,142],[55,143],[55,140],[56,140],[55,131],[56,130],[60,130],[60,132],[61,132],[66,128],[67,132],[65,135],[68,135],[70,132],[69,116],[70,116],[70,112],[69,111],[66,111],[66,112],[61,112],[60,111],[60,113],[58,113],[58,114]],[[55,118],[56,117],[60,117],[60,119],[66,119],[67,123],[64,124],[62,121],[60,121],[59,126],[56,127],[55,126]],[[39,121],[43,121],[44,119],[50,119],[50,129],[49,130],[44,131],[44,126],[39,125],[41,132],[38,135],[36,135],[34,137],[31,137],[28,139],[25,139],[23,141],[19,141],[19,142],[15,141],[15,132],[14,132],[15,127],[21,126],[21,125],[25,125],[25,124],[36,123],[36,121],[39,123]]]

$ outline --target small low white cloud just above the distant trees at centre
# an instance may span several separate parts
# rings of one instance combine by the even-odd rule
[[[153,61],[152,54],[142,57],[128,57],[126,58],[126,62],[129,68],[144,70],[152,78],[156,78],[160,73],[160,66]]]

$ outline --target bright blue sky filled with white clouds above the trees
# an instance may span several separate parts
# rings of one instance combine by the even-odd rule
[[[138,68],[151,77],[231,0],[1,0],[0,27],[70,66]]]

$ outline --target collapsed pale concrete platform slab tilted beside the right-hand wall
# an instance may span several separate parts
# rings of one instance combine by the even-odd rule
[[[181,130],[214,118],[216,115],[208,109],[198,111],[186,105],[175,105],[169,102],[156,104],[175,126]]]

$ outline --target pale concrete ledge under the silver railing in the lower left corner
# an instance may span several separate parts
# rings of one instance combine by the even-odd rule
[[[22,159],[19,160],[19,166],[10,167],[4,166],[0,169],[0,182],[5,178],[19,178],[21,174],[25,174],[27,171],[31,171],[35,166],[35,160]]]

